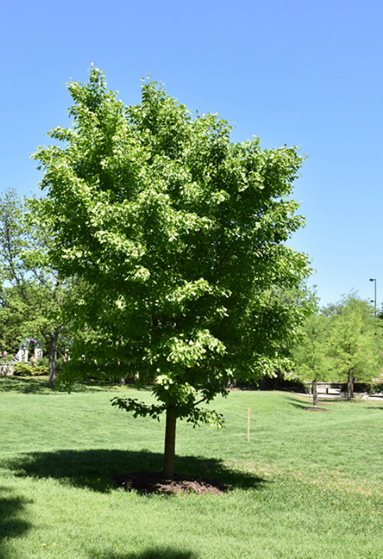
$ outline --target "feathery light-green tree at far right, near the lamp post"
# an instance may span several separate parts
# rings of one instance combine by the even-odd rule
[[[366,301],[350,294],[331,316],[330,351],[338,377],[347,382],[349,400],[355,377],[370,381],[382,370],[382,326],[372,313]]]

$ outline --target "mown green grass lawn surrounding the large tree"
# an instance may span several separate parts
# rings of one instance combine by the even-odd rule
[[[135,395],[0,379],[0,559],[383,558],[383,402],[314,413],[293,394],[231,392],[214,403],[225,429],[179,422],[176,464],[230,491],[164,496],[110,481],[159,471],[163,452],[163,420],[112,408],[117,392]]]

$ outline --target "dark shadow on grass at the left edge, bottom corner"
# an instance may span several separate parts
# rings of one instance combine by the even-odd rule
[[[19,538],[32,525],[23,519],[28,500],[13,494],[13,490],[0,487],[0,559],[11,559],[4,541]]]

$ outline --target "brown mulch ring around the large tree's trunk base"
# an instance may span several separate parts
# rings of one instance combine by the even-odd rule
[[[228,488],[218,481],[194,478],[175,474],[171,479],[164,479],[162,473],[155,471],[134,471],[115,473],[112,480],[118,488],[126,491],[136,490],[141,493],[196,493],[204,495],[224,495]]]

